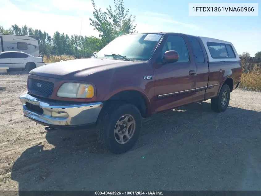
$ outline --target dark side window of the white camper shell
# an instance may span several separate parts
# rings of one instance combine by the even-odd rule
[[[207,42],[208,50],[213,59],[236,58],[234,50],[230,44]]]

